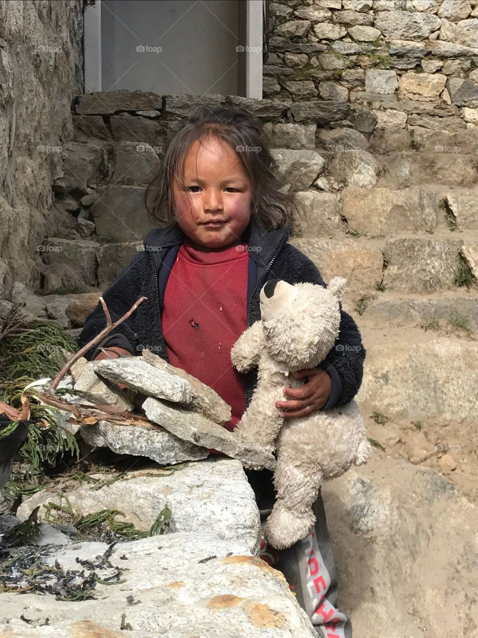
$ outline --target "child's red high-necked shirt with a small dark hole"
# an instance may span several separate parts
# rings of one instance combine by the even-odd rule
[[[231,406],[233,430],[245,410],[244,375],[231,348],[247,327],[247,244],[198,251],[180,246],[164,291],[161,322],[172,366],[212,387]]]

